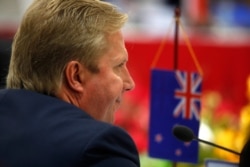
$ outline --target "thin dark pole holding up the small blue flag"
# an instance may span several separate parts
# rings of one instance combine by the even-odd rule
[[[180,8],[175,8],[175,33],[174,33],[174,70],[178,69],[178,49],[179,49],[179,21]],[[177,167],[177,162],[173,162],[173,167]]]

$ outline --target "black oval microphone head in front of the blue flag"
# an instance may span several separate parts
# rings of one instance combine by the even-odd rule
[[[175,125],[172,129],[174,136],[184,142],[190,142],[195,138],[193,131],[183,125]]]

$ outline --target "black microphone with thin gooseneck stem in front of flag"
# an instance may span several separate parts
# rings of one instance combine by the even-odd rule
[[[225,147],[222,147],[222,146],[219,146],[217,144],[214,144],[214,143],[211,143],[211,142],[208,142],[208,141],[205,141],[205,140],[202,140],[202,139],[199,139],[197,138],[193,131],[187,127],[187,126],[183,126],[183,125],[175,125],[172,129],[172,132],[174,134],[174,136],[181,140],[181,141],[184,141],[184,142],[190,142],[192,140],[197,140],[199,142],[203,142],[205,144],[208,144],[210,146],[214,146],[214,147],[218,147],[222,150],[225,150],[225,151],[228,151],[228,152],[231,152],[233,154],[236,154],[236,155],[240,155],[240,153],[234,151],[234,150],[231,150],[231,149],[228,149],[228,148],[225,148]]]

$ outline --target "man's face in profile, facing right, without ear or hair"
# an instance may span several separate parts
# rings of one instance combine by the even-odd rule
[[[108,50],[98,60],[98,73],[85,74],[80,108],[97,120],[114,122],[123,93],[134,88],[126,63],[128,54],[121,32],[108,38]]]

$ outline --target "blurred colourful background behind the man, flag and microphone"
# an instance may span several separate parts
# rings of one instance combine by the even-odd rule
[[[136,142],[142,167],[204,166],[206,158],[238,162],[239,157],[200,144],[198,164],[148,156],[150,70],[174,70],[174,10],[181,11],[178,69],[197,71],[186,34],[203,70],[199,137],[241,151],[250,129],[250,0],[109,0],[127,12],[124,28],[129,69],[136,82],[116,114],[116,124]],[[5,85],[11,42],[31,0],[0,0],[0,86]],[[166,119],[166,122],[168,120]]]

